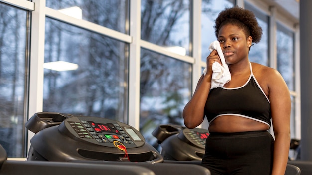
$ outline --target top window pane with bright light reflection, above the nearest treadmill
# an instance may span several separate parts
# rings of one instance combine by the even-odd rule
[[[128,34],[128,0],[46,0],[46,6]]]

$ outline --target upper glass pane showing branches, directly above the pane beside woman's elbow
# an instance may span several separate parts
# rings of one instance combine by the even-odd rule
[[[190,0],[142,0],[141,8],[141,39],[190,54]]]

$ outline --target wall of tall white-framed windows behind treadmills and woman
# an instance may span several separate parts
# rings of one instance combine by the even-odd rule
[[[298,136],[299,33],[290,30],[298,21],[285,25],[280,6],[267,11],[269,4],[254,0],[0,0],[0,144],[8,157],[26,156],[33,133],[25,120],[42,111],[135,125],[158,146],[152,131],[183,125],[183,108],[216,40],[214,21],[238,3],[263,29],[250,61],[277,63],[292,94],[291,136]],[[275,28],[268,19],[281,23]],[[267,44],[275,39],[277,45]],[[268,58],[275,51],[277,60]]]

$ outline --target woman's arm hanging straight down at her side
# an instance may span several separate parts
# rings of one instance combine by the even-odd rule
[[[291,99],[281,74],[273,69],[271,71],[268,89],[275,137],[272,175],[284,175],[290,147]]]

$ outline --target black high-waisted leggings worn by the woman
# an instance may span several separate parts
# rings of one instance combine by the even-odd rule
[[[273,146],[267,131],[210,132],[202,166],[211,175],[270,175]]]

